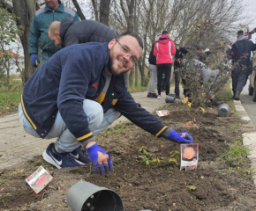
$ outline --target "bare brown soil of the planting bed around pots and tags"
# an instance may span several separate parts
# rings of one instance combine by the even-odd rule
[[[196,120],[196,125],[186,128],[200,146],[196,170],[180,171],[180,156],[177,164],[166,162],[170,151],[180,150],[179,144],[157,139],[132,123],[120,124],[97,137],[97,142],[112,156],[114,171],[109,175],[94,174],[90,164],[58,170],[36,156],[0,171],[0,210],[70,210],[66,193],[79,181],[115,191],[127,211],[256,210],[256,190],[250,172],[241,173],[248,165],[231,169],[220,156],[246,131],[246,123],[234,113],[218,117],[217,106],[208,108],[207,113],[199,110],[194,116],[189,115],[187,106],[169,104],[164,109],[170,114],[161,120],[177,131],[184,129],[187,121]],[[190,113],[195,109],[191,108]],[[146,149],[160,163],[141,162],[145,154],[139,149]],[[249,164],[249,160],[246,162]],[[54,178],[36,195],[25,178],[41,164]]]

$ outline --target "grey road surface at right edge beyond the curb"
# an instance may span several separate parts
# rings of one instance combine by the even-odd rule
[[[242,105],[245,107],[246,113],[248,113],[251,118],[254,128],[256,128],[256,102],[253,102],[252,96],[249,96],[248,87],[249,80],[247,80],[247,84],[245,84],[244,90],[240,94],[240,100]]]

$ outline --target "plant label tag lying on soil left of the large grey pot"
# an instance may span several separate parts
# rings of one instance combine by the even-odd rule
[[[32,187],[34,193],[40,193],[41,190],[49,184],[53,177],[40,166],[33,174],[26,178],[26,182]]]

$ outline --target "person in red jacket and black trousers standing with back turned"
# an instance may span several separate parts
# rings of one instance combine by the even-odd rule
[[[154,43],[154,56],[157,66],[157,91],[158,99],[161,98],[162,73],[164,73],[165,93],[169,94],[169,78],[171,72],[172,55],[176,54],[173,40],[169,38],[167,31],[162,31],[162,36]]]

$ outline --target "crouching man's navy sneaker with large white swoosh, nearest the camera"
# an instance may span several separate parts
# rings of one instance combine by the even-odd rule
[[[69,152],[66,153],[59,153],[53,151],[52,148],[54,147],[54,143],[50,143],[48,148],[45,149],[42,153],[43,159],[48,162],[49,164],[53,164],[56,168],[66,168],[66,167],[76,167],[82,166],[79,164]]]

